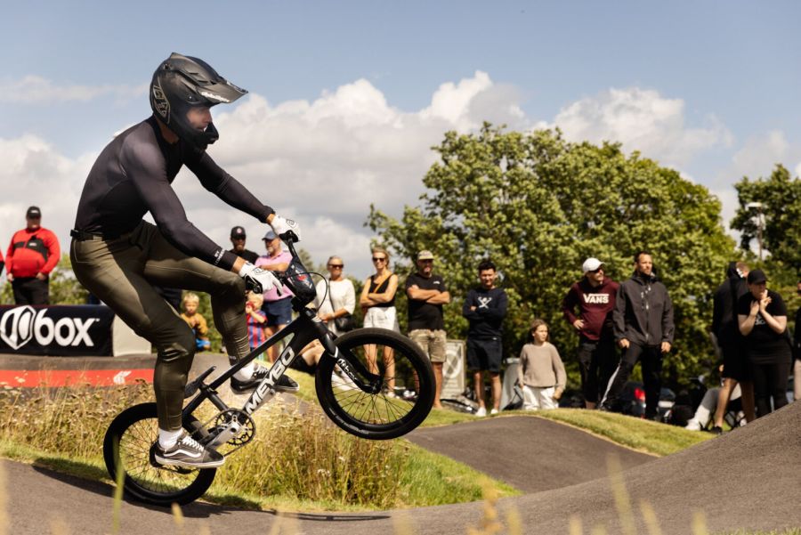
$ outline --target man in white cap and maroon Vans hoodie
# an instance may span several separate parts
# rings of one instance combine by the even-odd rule
[[[564,296],[562,313],[578,332],[581,389],[587,409],[595,409],[617,366],[612,311],[619,284],[606,277],[603,262],[597,258],[587,258],[581,271],[584,278]]]

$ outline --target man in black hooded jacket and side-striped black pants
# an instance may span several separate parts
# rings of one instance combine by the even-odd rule
[[[618,369],[612,374],[601,410],[615,409],[637,361],[643,363],[645,417],[658,417],[662,388],[662,356],[673,344],[673,304],[667,288],[653,273],[647,251],[635,255],[635,272],[620,284],[613,312],[615,340],[623,350]]]

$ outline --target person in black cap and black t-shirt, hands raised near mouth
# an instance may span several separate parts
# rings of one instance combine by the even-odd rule
[[[745,337],[756,397],[756,417],[787,405],[791,348],[787,330],[787,305],[767,289],[762,270],[748,273],[748,294],[737,300],[737,320]]]

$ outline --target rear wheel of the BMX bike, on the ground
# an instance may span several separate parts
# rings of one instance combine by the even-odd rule
[[[184,427],[188,431],[195,422]],[[112,420],[103,439],[103,458],[113,481],[117,466],[125,471],[123,489],[131,498],[159,507],[188,504],[214,482],[216,468],[189,470],[160,466],[150,458],[150,446],[158,436],[156,403],[134,405]]]

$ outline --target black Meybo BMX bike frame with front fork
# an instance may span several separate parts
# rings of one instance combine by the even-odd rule
[[[359,359],[352,355],[352,353],[339,351],[334,344],[333,334],[328,330],[328,328],[326,328],[325,324],[317,316],[316,309],[303,306],[303,304],[297,302],[295,298],[293,298],[292,305],[295,309],[295,312],[298,312],[299,315],[297,318],[295,318],[295,320],[292,320],[286,328],[279,330],[279,332],[265,340],[262,345],[259,345],[253,351],[247,353],[245,357],[232,365],[230,369],[227,369],[223,375],[214,379],[210,385],[206,385],[206,383],[203,382],[203,379],[212,371],[214,371],[215,367],[207,369],[203,374],[195,379],[193,383],[190,383],[190,385],[197,383],[200,393],[198,393],[198,395],[195,396],[182,410],[182,418],[184,420],[189,417],[190,414],[192,414],[192,412],[194,412],[195,409],[197,409],[198,406],[205,400],[211,401],[214,406],[221,411],[230,409],[230,407],[226,405],[225,402],[220,398],[216,389],[231,379],[231,377],[238,372],[239,369],[245,367],[260,354],[267,351],[267,349],[272,345],[277,344],[280,340],[289,335],[295,336],[293,336],[287,347],[284,348],[284,351],[281,352],[279,358],[276,359],[276,361],[272,364],[267,377],[265,377],[263,381],[256,386],[255,391],[250,394],[250,397],[243,405],[242,410],[248,415],[253,414],[255,410],[259,409],[259,407],[261,407],[266,401],[271,400],[272,396],[275,395],[275,389],[273,385],[275,385],[279,378],[284,375],[284,373],[287,371],[287,368],[289,368],[289,366],[292,364],[292,361],[295,361],[295,359],[298,358],[301,350],[303,350],[303,347],[315,339],[319,340],[320,344],[322,344],[323,348],[325,349],[323,358],[335,359],[337,366],[339,366],[344,374],[350,377],[353,383],[359,386],[363,392],[378,393],[381,391],[383,378],[376,374],[370,373],[369,370],[365,368],[365,366],[359,361]],[[367,379],[367,382],[365,382],[362,377]]]

